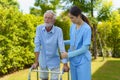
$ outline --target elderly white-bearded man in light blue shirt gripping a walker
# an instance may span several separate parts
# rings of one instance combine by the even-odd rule
[[[65,52],[63,33],[61,28],[54,26],[56,15],[52,10],[48,10],[44,14],[44,24],[36,29],[35,37],[35,63],[33,68],[40,66],[41,70],[59,72],[60,71],[60,53]],[[62,59],[63,68],[68,71],[67,59]],[[48,73],[40,73],[42,80],[48,80]],[[58,80],[58,74],[52,73],[51,80]]]

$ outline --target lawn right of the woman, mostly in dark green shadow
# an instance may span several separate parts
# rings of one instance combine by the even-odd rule
[[[120,58],[105,58],[104,61],[101,60],[92,62],[92,68],[95,71],[92,71],[92,80],[120,80]],[[99,66],[100,64],[102,66]],[[95,66],[99,67],[95,69]]]

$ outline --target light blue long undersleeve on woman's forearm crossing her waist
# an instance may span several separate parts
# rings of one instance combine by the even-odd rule
[[[85,53],[89,49],[89,46],[82,46],[80,49],[77,49],[75,51],[68,52],[68,58],[78,56],[80,54]]]

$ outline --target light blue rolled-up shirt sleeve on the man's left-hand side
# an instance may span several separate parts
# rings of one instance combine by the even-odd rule
[[[35,49],[34,52],[40,52],[41,40],[40,40],[40,28],[36,28],[36,36],[34,39]]]

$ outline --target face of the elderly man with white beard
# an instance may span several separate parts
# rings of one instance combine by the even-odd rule
[[[44,16],[44,23],[46,27],[51,27],[54,24],[53,14],[47,13]]]

